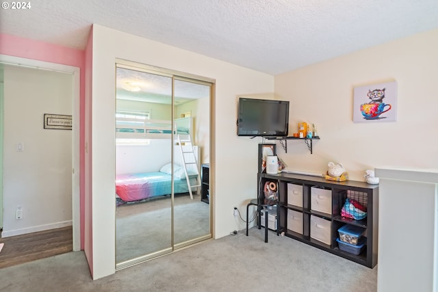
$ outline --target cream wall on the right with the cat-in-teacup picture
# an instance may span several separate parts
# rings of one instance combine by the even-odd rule
[[[289,99],[291,133],[298,122],[315,123],[321,140],[313,155],[302,141],[289,141],[289,168],[326,172],[344,163],[350,179],[364,181],[378,166],[438,167],[438,29],[344,55],[275,77],[275,92]],[[352,122],[353,88],[398,83],[396,122]]]

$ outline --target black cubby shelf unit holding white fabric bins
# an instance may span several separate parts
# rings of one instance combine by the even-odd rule
[[[374,267],[377,264],[377,244],[378,244],[378,185],[370,185],[360,181],[327,181],[325,178],[318,176],[306,176],[301,174],[266,174],[259,173],[258,180],[260,185],[266,181],[275,181],[279,185],[279,212],[278,228],[280,233],[286,237],[302,241],[315,248],[320,248],[331,254],[342,256],[350,261],[354,261],[366,267]],[[300,206],[288,204],[287,184],[298,185],[302,187],[302,202]],[[259,192],[262,191],[259,185]],[[330,210],[328,213],[315,211],[312,207],[311,192],[312,187],[329,190],[331,194]],[[259,193],[260,195],[260,193]],[[362,220],[352,220],[341,216],[341,209],[346,197],[360,196],[365,202],[367,216]],[[289,230],[287,224],[288,210],[296,211],[302,216],[302,234]],[[316,240],[311,236],[311,217],[322,218],[330,224],[329,238],[324,243]],[[339,249],[336,241],[338,229],[350,224],[359,226],[364,230],[365,247],[357,255]],[[327,244],[329,243],[329,244]]]

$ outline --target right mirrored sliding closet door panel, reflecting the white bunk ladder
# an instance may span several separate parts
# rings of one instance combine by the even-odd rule
[[[211,84],[175,77],[174,90],[174,161],[181,166],[181,175],[174,180],[174,243],[179,248],[211,237],[210,206],[201,200],[202,161],[208,161],[209,154]],[[184,194],[186,189],[190,196]]]

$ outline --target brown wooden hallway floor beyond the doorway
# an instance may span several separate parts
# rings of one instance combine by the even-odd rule
[[[73,230],[71,226],[0,238],[4,243],[0,252],[0,269],[11,267],[40,258],[64,254],[73,250]]]

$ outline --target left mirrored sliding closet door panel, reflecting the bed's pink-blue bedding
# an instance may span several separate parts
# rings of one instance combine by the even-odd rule
[[[123,67],[116,77],[116,263],[123,265],[172,250],[172,77]]]

